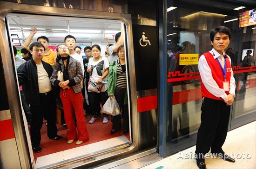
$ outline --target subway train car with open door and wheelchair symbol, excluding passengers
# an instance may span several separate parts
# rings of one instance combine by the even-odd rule
[[[0,1],[0,6],[0,72],[3,91],[0,113],[1,168],[27,169],[82,165],[88,168],[141,150],[148,150],[146,153],[156,152],[158,49],[154,1],[7,0]],[[147,18],[143,18],[140,11],[146,6],[152,8],[152,13],[149,13]],[[115,33],[124,27],[129,98],[127,134],[119,131],[111,135],[110,118],[106,125],[102,124],[102,117],[92,125],[88,124],[87,118],[90,139],[81,144],[83,145],[81,149],[74,144],[71,146],[67,144],[65,138],[67,126],[63,126],[61,119],[59,124],[57,122],[58,134],[64,139],[49,140],[46,133],[47,124],[44,121],[41,129],[42,151],[33,153],[29,135],[30,126],[27,125],[20,102],[12,49],[12,45],[16,46],[18,51],[16,57],[21,56],[20,50],[32,27],[37,28],[32,42],[36,42],[40,36],[46,36],[49,38],[49,48],[55,51],[59,44],[64,44],[65,36],[73,35],[76,38],[76,45],[82,48],[82,56],[85,56],[84,47],[93,44],[99,44],[101,56],[105,56],[107,42],[104,39],[108,38],[109,43],[115,44]],[[143,40],[133,42],[134,38],[142,39],[142,32],[150,40],[148,45]],[[155,80],[151,81],[151,79]],[[58,111],[60,110],[57,109],[57,113]]]

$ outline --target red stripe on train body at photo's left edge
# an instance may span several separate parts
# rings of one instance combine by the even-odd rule
[[[12,119],[0,121],[0,141],[15,138]]]

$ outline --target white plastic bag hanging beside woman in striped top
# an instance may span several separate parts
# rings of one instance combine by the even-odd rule
[[[102,107],[102,112],[106,114],[110,114],[112,116],[116,116],[121,114],[120,108],[118,106],[117,101],[115,100],[115,97],[113,98],[108,98],[106,103]]]

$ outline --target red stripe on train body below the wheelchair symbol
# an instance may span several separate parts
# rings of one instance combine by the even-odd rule
[[[137,98],[138,113],[157,109],[157,95]]]

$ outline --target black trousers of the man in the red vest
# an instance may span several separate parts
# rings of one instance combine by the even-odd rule
[[[222,100],[204,98],[201,107],[201,125],[196,139],[195,155],[198,162],[204,162],[204,155],[222,153],[229,125],[230,106]]]

